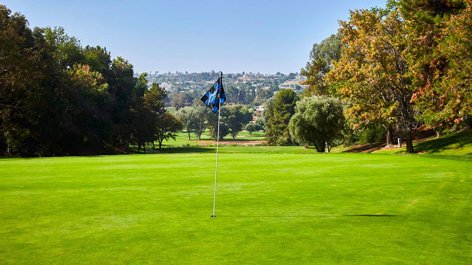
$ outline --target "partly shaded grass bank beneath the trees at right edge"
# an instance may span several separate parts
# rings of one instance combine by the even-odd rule
[[[438,155],[472,155],[472,130],[457,132],[440,138],[413,143],[415,152]],[[397,154],[406,152],[406,147],[381,150],[379,153]]]

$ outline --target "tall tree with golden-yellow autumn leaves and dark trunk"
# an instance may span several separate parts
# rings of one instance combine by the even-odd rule
[[[388,129],[393,118],[413,152],[415,91],[405,60],[405,30],[395,7],[355,10],[340,23],[341,59],[328,74],[348,104],[346,115],[354,123],[378,123]],[[388,137],[390,134],[388,134]]]

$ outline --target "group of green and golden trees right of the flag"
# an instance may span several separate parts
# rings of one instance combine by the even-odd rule
[[[281,91],[265,111],[270,144],[329,150],[356,131],[383,127],[414,152],[421,124],[442,133],[472,127],[472,1],[388,1],[351,11],[314,44],[300,95]]]

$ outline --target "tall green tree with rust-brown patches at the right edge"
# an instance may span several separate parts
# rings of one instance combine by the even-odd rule
[[[471,1],[401,0],[405,58],[419,115],[438,133],[471,115]]]

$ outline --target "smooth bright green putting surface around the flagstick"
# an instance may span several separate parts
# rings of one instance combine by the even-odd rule
[[[214,162],[0,159],[0,264],[472,264],[470,159],[222,153],[211,218]]]

